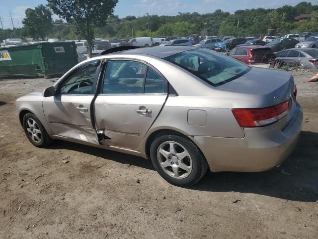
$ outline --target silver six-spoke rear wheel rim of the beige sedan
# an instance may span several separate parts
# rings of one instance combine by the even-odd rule
[[[167,141],[160,144],[157,158],[163,171],[174,178],[185,178],[192,170],[189,152],[179,143]]]

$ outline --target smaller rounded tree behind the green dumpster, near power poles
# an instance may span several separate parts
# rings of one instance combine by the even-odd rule
[[[34,9],[27,8],[22,23],[33,39],[37,40],[40,37],[44,40],[52,30],[52,12],[42,4]]]

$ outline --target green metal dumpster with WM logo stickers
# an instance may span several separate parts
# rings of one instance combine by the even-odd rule
[[[41,42],[0,48],[0,77],[53,77],[78,63],[75,42]]]

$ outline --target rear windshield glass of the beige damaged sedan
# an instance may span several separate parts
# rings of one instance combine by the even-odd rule
[[[232,81],[250,70],[245,64],[206,49],[180,52],[166,57],[165,60],[186,69],[213,86]]]

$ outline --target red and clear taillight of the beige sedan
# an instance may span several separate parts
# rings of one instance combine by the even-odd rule
[[[288,101],[273,107],[260,109],[232,109],[241,127],[260,127],[282,119],[288,114]]]

